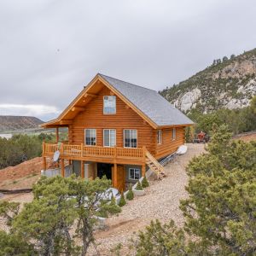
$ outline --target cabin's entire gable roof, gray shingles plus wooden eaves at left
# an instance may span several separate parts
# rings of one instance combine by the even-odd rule
[[[83,111],[84,106],[90,102],[91,97],[95,95],[94,93],[97,90],[101,90],[101,83],[119,96],[121,100],[137,112],[153,128],[194,124],[155,90],[127,83],[119,79],[113,79],[103,74],[97,74],[57,119],[44,123],[41,126],[49,127],[71,123],[75,115]]]

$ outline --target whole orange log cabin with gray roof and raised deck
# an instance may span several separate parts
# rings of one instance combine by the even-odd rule
[[[113,187],[125,190],[147,169],[162,172],[158,160],[177,150],[184,128],[193,122],[154,90],[97,74],[60,114],[41,125],[56,128],[56,143],[43,143],[46,158],[60,150],[81,177],[106,175]],[[59,128],[68,127],[68,142],[59,143]]]

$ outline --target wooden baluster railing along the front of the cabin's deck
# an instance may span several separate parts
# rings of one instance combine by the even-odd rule
[[[72,145],[66,143],[44,143],[43,155],[54,154],[56,150],[60,150],[61,155],[65,157],[101,157],[101,158],[143,158],[143,148],[118,148],[118,147],[97,147]]]

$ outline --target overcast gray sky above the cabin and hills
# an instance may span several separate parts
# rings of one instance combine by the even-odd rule
[[[55,118],[96,73],[154,90],[256,47],[255,0],[0,0],[0,114]]]

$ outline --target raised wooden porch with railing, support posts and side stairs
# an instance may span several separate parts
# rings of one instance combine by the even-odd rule
[[[146,165],[160,175],[163,172],[163,166],[154,159],[146,147],[143,148],[119,148],[119,147],[98,147],[84,146],[84,144],[69,143],[43,143],[44,171],[47,169],[46,158],[52,158],[55,152],[60,151],[61,176],[65,177],[65,161],[69,165],[73,161],[80,162],[80,176],[84,178],[84,164],[87,162],[105,163],[112,165],[113,187],[120,187],[120,183],[125,180],[125,165],[141,166],[141,176],[145,176]],[[57,163],[59,165],[59,163]]]

